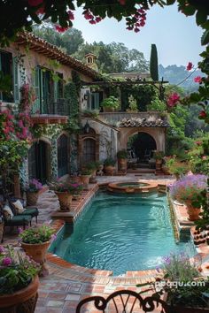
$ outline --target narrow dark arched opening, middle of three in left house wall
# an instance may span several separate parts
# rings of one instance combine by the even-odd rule
[[[68,151],[67,151],[67,137],[62,134],[58,138],[58,177],[68,173]]]

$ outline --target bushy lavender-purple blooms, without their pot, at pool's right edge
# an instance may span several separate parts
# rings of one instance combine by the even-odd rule
[[[205,175],[186,175],[176,180],[169,188],[173,199],[185,202],[197,202],[198,197],[207,186]],[[196,206],[197,207],[197,206]]]

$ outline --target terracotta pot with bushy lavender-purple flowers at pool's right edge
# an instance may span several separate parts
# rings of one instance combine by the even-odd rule
[[[176,180],[169,188],[172,198],[185,203],[190,221],[199,218],[201,205],[197,202],[201,193],[207,187],[205,175],[186,175]]]

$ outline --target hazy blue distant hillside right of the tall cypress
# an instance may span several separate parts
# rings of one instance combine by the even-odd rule
[[[201,71],[196,70],[194,73],[190,75],[192,71],[188,72],[185,66],[177,66],[177,65],[168,65],[164,67],[163,65],[159,65],[159,79],[161,80],[162,77],[164,80],[168,80],[170,84],[177,85],[182,80],[180,87],[187,89],[187,91],[195,91],[198,88],[198,83],[194,82],[194,78],[196,76],[203,76]],[[190,76],[190,77],[188,77]],[[188,79],[187,79],[188,77]]]

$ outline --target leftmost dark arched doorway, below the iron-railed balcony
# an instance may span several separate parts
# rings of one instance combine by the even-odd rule
[[[29,179],[38,179],[43,184],[50,177],[50,145],[42,140],[33,143],[28,151]]]

